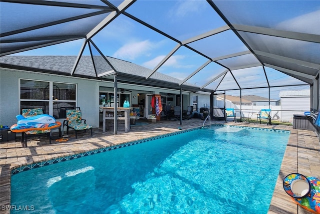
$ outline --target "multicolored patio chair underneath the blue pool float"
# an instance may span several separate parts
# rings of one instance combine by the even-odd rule
[[[43,114],[42,108],[33,108],[33,109],[22,109],[22,116],[25,118],[34,117],[36,115]],[[21,133],[21,143],[25,141],[25,147],[27,147],[26,141],[28,135],[40,135],[46,134],[49,138],[49,143],[51,143],[51,129],[45,130],[29,130]]]

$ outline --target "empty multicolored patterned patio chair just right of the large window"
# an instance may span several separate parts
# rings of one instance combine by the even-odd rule
[[[78,131],[86,131],[90,129],[92,137],[92,126],[85,123],[86,120],[82,119],[82,113],[80,110],[66,110],[66,120],[63,121],[63,129],[66,126],[66,134],[69,135],[69,128],[73,129],[75,132],[75,138],[77,138],[76,133]]]

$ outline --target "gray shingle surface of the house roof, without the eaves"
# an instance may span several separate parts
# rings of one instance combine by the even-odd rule
[[[115,71],[119,74],[134,75],[138,77],[147,77],[152,71],[148,68],[127,62],[124,60],[106,57],[106,59],[114,67]],[[42,69],[64,74],[70,74],[76,56],[3,56],[0,57],[0,63],[22,66],[27,68]],[[103,74],[112,68],[105,62],[103,57],[94,57],[95,68],[98,74]],[[74,74],[84,75],[88,77],[96,77],[94,72],[93,63],[90,56],[82,56],[75,69]],[[180,82],[179,79],[170,77],[159,72],[155,72],[150,79],[162,80],[166,82],[176,83]],[[192,85],[193,86],[193,85]]]

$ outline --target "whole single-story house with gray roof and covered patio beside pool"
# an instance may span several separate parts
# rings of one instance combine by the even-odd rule
[[[134,78],[145,79],[145,76],[151,72],[150,69],[127,61],[106,58],[112,62],[117,72],[124,75],[135,75],[129,76],[132,82]],[[103,103],[107,104],[108,101],[111,102],[110,105],[114,105],[112,104],[114,97],[112,69],[107,67],[105,61],[95,59],[97,63],[94,66],[101,71],[95,74],[91,57],[82,56],[75,69],[75,75],[70,76],[75,59],[76,56],[1,57],[0,124],[11,126],[16,123],[15,116],[20,114],[22,108],[36,107],[41,107],[44,113],[63,121],[65,116],[61,114],[61,108],[76,106],[81,108],[82,115],[88,124],[94,128],[99,127],[101,122],[99,107]],[[95,75],[100,78],[94,78]],[[155,72],[152,78],[176,83],[176,85],[180,82],[178,79],[158,72]],[[129,97],[131,106],[140,107],[144,111],[144,115],[140,117],[147,116],[151,112],[149,100],[151,94],[163,95],[164,102],[170,105],[179,105],[181,100],[179,90],[153,86],[152,83],[143,85],[129,81],[118,82],[117,88],[118,106],[122,107],[124,99]],[[190,94],[194,96],[196,93],[192,91],[194,90],[182,90],[183,109],[193,104]],[[169,102],[167,102],[167,97],[170,97]],[[205,96],[207,97],[206,102],[205,99],[202,99],[202,94],[200,97],[200,105],[209,103],[208,95]]]

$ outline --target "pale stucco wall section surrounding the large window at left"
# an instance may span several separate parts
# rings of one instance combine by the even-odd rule
[[[15,124],[17,122],[15,116],[20,114],[19,79],[76,84],[76,106],[81,108],[82,115],[88,124],[98,127],[99,122],[96,118],[98,118],[99,113],[96,109],[98,109],[99,83],[97,81],[6,69],[0,70],[0,123],[2,125]]]

